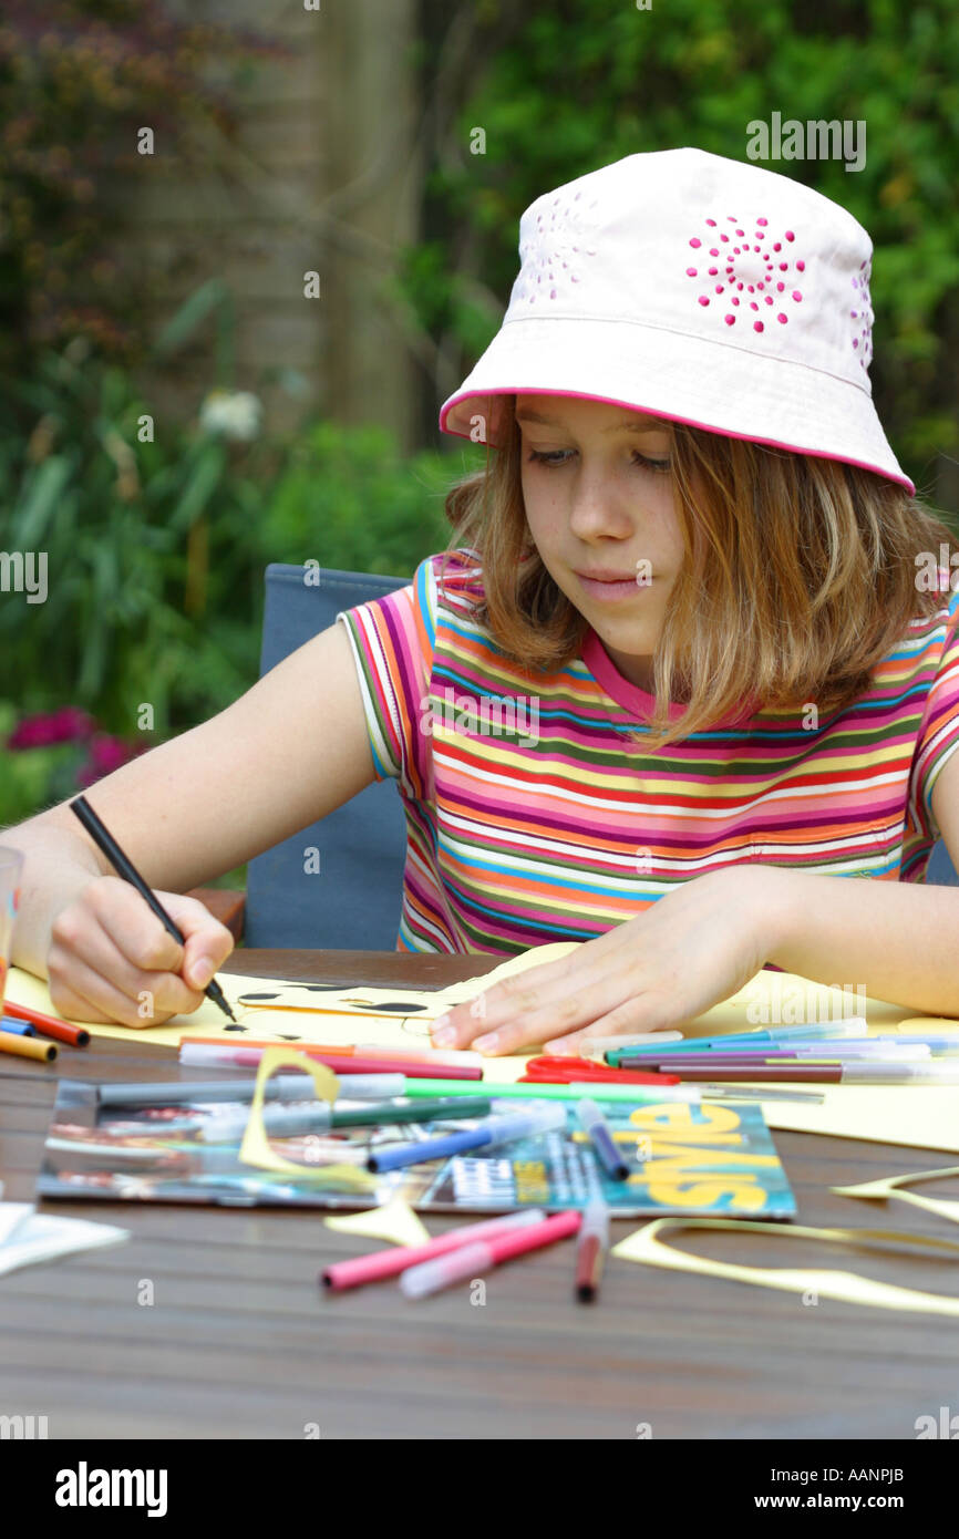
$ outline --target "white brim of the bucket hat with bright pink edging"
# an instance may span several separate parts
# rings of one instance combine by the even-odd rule
[[[625,326],[634,346],[623,346]],[[613,346],[610,328],[616,328]],[[722,437],[856,465],[916,492],[867,389],[727,339],[717,343],[623,320],[506,322],[460,389],[443,402],[440,431],[502,448],[505,403],[499,397],[513,394],[600,400]],[[479,436],[471,431],[474,417],[485,419]]]

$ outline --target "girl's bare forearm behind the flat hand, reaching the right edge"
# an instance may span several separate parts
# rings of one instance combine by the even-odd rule
[[[767,962],[959,1016],[959,888],[748,866]]]

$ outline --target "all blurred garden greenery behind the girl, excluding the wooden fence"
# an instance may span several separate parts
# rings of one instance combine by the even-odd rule
[[[376,35],[379,0],[353,5]],[[417,359],[405,439],[376,412],[340,420],[336,399],[303,405],[302,371],[282,357],[237,362],[254,300],[223,275],[163,308],[155,274],[125,262],[122,211],[105,215],[117,143],[155,119],[185,160],[189,145],[212,155],[199,129],[229,140],[251,82],[289,55],[197,11],[212,14],[159,0],[46,0],[38,14],[8,0],[0,20],[0,545],[55,562],[45,603],[0,594],[0,823],[252,683],[268,562],[409,576],[445,546],[443,489],[482,451],[440,436],[437,409],[499,326],[519,217],[636,151],[697,145],[745,160],[747,125],[773,111],[865,120],[862,171],[770,168],[870,231],[876,403],[921,494],[954,522],[954,5],[403,0],[409,46],[391,68],[405,71],[420,179],[386,292]],[[206,369],[205,400],[183,396],[172,420],[155,396],[175,391],[186,359]],[[265,409],[269,391],[292,417]],[[160,423],[152,440],[145,419]]]

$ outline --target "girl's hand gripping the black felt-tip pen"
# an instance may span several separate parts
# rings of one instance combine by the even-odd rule
[[[119,876],[94,877],[57,913],[46,965],[62,1016],[140,1028],[197,1010],[232,936],[197,899],[157,897],[185,945]]]

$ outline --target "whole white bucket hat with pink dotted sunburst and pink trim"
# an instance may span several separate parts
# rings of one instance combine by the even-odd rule
[[[914,492],[873,406],[873,243],[820,192],[703,149],[627,155],[531,203],[519,252],[443,432],[499,446],[497,397],[576,396]]]

